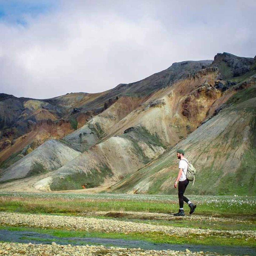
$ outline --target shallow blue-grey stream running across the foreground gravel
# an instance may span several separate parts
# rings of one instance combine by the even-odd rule
[[[169,244],[169,243],[151,243],[140,240],[126,240],[114,238],[98,237],[57,237],[49,234],[41,234],[30,231],[10,231],[0,230],[0,241],[19,242],[19,243],[42,243],[51,244],[55,242],[62,245],[104,245],[106,247],[117,246],[123,248],[141,248],[145,250],[174,250],[174,251],[209,251],[220,254],[231,255],[256,255],[256,249],[240,246],[210,246],[210,245],[191,245],[191,244]]]

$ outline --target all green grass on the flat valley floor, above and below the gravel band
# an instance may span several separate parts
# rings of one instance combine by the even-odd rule
[[[225,246],[249,246],[255,248],[255,238],[249,233],[256,230],[256,197],[238,196],[190,196],[197,204],[193,218],[147,218],[146,213],[174,213],[178,210],[176,195],[141,194],[69,194],[69,193],[0,193],[0,211],[26,214],[54,214],[84,216],[86,218],[118,219],[124,222],[145,223],[155,226],[171,226],[175,229],[205,229],[223,231],[223,234],[193,234],[179,236],[160,231],[146,232],[99,232],[66,230],[63,228],[32,227],[23,225],[3,225],[0,229],[36,231],[61,237],[101,237],[143,240],[154,243],[203,244]],[[184,206],[186,215],[189,207]],[[127,212],[138,212],[135,217]],[[95,216],[89,216],[96,212]],[[118,213],[118,214],[117,214]],[[143,215],[145,213],[145,215]],[[88,216],[87,216],[88,215]],[[137,217],[136,217],[137,216]],[[167,215],[168,216],[168,215]],[[173,216],[170,214],[170,216]],[[211,219],[210,219],[211,218]],[[210,219],[210,221],[209,221]],[[225,232],[248,231],[248,237],[226,235]],[[223,236],[226,236],[223,239]]]

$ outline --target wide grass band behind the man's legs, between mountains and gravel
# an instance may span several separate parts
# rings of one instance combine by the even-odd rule
[[[47,194],[48,195],[48,194]],[[66,198],[65,198],[66,196]],[[86,197],[87,196],[87,197]],[[199,197],[188,196],[197,204],[196,214],[215,216],[253,216],[256,211],[255,197]],[[19,195],[19,193],[0,193],[0,210],[20,213],[58,213],[79,214],[85,211],[138,211],[152,213],[173,213],[178,209],[178,197],[170,196],[170,199],[150,195],[142,197],[118,198],[116,195],[85,195],[85,197],[68,198],[68,194],[58,194],[56,197],[46,197],[38,194],[38,197]],[[189,207],[185,205],[185,214]]]

